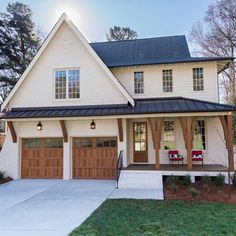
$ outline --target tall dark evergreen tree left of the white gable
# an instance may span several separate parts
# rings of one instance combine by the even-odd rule
[[[23,3],[9,3],[0,13],[0,99],[14,87],[40,46],[32,11]]]

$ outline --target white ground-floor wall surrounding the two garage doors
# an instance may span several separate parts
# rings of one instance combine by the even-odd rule
[[[63,146],[63,178],[72,178],[72,138],[73,137],[117,137],[118,153],[125,150],[124,159],[126,160],[126,121],[123,119],[124,141],[119,142],[118,126],[116,119],[95,120],[96,129],[90,129],[91,119],[79,121],[66,121],[69,141]],[[17,133],[17,143],[12,142],[11,134],[8,131],[3,149],[0,152],[0,170],[14,179],[21,177],[21,140],[22,138],[54,138],[61,137],[62,131],[59,121],[42,121],[43,130],[36,130],[38,121],[19,121],[14,122]]]

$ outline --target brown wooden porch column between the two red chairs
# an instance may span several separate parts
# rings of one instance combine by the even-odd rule
[[[187,164],[188,170],[192,170],[192,148],[194,138],[194,128],[196,124],[196,118],[194,117],[179,117],[180,124],[183,130],[183,137],[185,141],[185,148],[187,150]]]

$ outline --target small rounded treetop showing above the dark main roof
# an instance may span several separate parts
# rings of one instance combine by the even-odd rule
[[[107,41],[130,40],[138,37],[137,32],[129,27],[114,26],[110,28],[110,33],[106,35]]]

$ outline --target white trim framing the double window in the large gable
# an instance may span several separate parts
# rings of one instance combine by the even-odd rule
[[[66,98],[57,98],[56,99],[56,84],[55,84],[55,78],[56,78],[56,71],[58,70],[65,70],[66,71]],[[79,98],[69,98],[69,81],[68,81],[68,71],[69,70],[79,70]],[[53,102],[68,102],[68,101],[79,101],[81,100],[81,69],[80,67],[66,67],[66,68],[54,68],[53,69]]]

